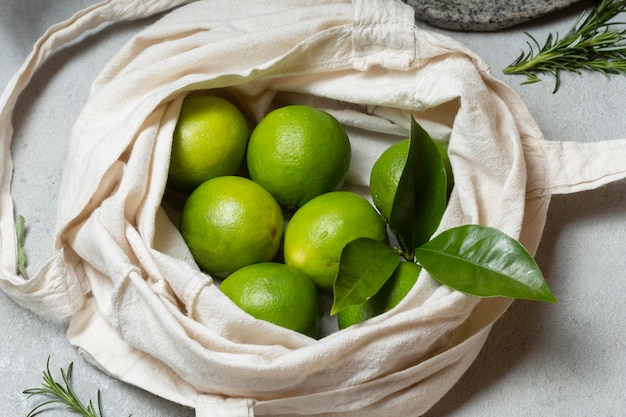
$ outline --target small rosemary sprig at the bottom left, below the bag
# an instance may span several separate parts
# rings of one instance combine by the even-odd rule
[[[43,395],[49,399],[42,402],[33,408],[26,417],[33,417],[39,413],[45,411],[44,407],[50,404],[61,404],[67,406],[71,411],[80,414],[83,417],[103,417],[102,403],[100,401],[100,390],[98,390],[97,406],[91,400],[87,405],[84,405],[76,396],[76,393],[72,389],[72,369],[74,363],[70,363],[67,370],[61,369],[61,377],[63,378],[63,384],[56,382],[50,373],[50,358],[46,362],[46,370],[43,373],[43,383],[39,388],[30,388],[24,391],[24,394],[28,395],[28,398],[35,395]],[[130,417],[130,416],[129,416]]]

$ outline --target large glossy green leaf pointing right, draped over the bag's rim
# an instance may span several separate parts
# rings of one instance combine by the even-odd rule
[[[415,257],[439,282],[467,294],[557,301],[532,255],[492,227],[446,230],[418,248]]]

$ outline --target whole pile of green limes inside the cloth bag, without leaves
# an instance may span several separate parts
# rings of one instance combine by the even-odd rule
[[[249,132],[230,101],[200,93],[185,98],[168,177],[171,188],[189,193],[181,234],[200,268],[222,278],[220,289],[240,308],[315,337],[323,314],[318,297],[332,292],[344,246],[361,237],[388,241],[397,188],[391,168],[405,163],[408,147],[386,153],[372,171],[379,212],[341,190],[350,141],[329,113],[287,105]],[[395,306],[417,279],[411,265],[376,297],[339,313],[339,327]]]

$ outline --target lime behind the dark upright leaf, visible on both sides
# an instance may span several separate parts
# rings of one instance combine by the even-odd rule
[[[452,166],[448,157],[448,143],[433,139],[442,161],[446,167],[448,177],[448,194],[454,186]],[[394,143],[378,157],[370,172],[370,193],[374,205],[380,210],[383,217],[389,220],[393,199],[396,196],[398,183],[409,155],[409,139]]]

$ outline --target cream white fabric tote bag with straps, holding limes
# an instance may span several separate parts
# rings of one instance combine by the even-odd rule
[[[55,255],[16,274],[11,115],[55,49],[107,21],[186,1],[104,1],[52,27],[0,101],[0,286],[38,314],[71,316],[97,366],[204,416],[416,416],[460,378],[510,305],[426,272],[394,310],[314,340],[258,321],[199,271],[161,201],[182,99],[228,95],[254,122],[284,103],[335,115],[353,146],[348,187],[409,133],[449,141],[455,189],[441,230],[497,227],[537,250],[552,193],[626,177],[626,140],[544,140],[520,98],[395,0],[204,0],[136,35],[95,80],[61,184]],[[593,159],[591,159],[593,156]]]

